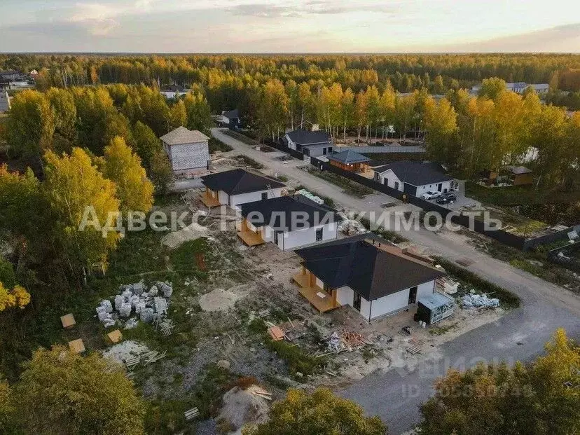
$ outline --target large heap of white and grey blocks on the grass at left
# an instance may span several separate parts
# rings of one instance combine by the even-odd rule
[[[146,323],[155,322],[158,326],[169,324],[170,330],[172,324],[167,319],[167,305],[172,294],[173,286],[169,282],[158,281],[149,290],[142,281],[124,284],[119,287],[119,294],[115,296],[113,303],[108,299],[101,301],[96,308],[97,317],[105,328],[121,324],[125,329],[131,329],[140,320]],[[162,327],[164,333],[166,329]]]

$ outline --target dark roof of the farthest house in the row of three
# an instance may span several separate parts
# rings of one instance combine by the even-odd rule
[[[263,191],[271,188],[284,187],[284,183],[265,176],[252,174],[242,169],[218,172],[201,177],[202,184],[212,191],[224,191],[229,195]]]

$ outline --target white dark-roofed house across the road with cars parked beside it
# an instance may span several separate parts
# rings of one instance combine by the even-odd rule
[[[389,163],[374,170],[375,181],[419,197],[429,191],[447,193],[457,190],[457,180],[443,171],[443,167],[436,163],[410,160]]]

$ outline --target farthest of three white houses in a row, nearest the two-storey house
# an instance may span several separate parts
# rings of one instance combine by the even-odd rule
[[[235,169],[201,177],[205,186],[202,202],[206,207],[228,205],[240,209],[246,202],[267,200],[282,195],[286,185],[276,179]]]

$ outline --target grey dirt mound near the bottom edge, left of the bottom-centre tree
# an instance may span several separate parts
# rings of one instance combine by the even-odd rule
[[[242,434],[242,426],[247,423],[261,423],[268,419],[269,401],[253,394],[261,391],[257,385],[247,389],[233,387],[223,395],[223,407],[216,420],[230,422],[233,434]]]

